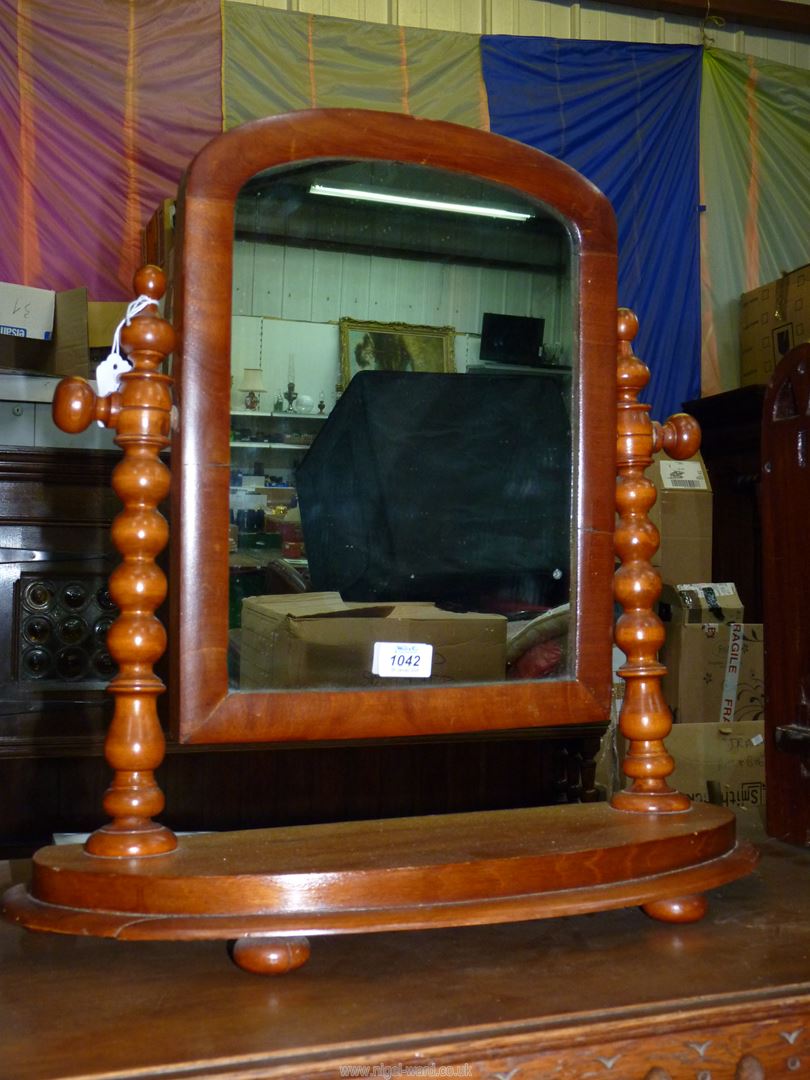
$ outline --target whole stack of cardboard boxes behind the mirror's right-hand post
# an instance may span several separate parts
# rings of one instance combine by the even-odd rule
[[[700,455],[689,461],[659,455],[648,476],[658,490],[650,518],[661,534],[652,562],[664,582],[662,689],[675,721],[666,739],[675,759],[669,783],[693,799],[761,814],[761,624],[744,622],[733,583],[712,582],[712,488]],[[617,704],[622,690],[620,680]],[[625,750],[616,727],[606,744],[603,758],[613,765],[605,771],[603,762],[603,783],[610,789]]]

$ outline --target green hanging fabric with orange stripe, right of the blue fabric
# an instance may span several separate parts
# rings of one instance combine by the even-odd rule
[[[739,299],[810,261],[810,71],[707,49],[703,393],[739,384]]]

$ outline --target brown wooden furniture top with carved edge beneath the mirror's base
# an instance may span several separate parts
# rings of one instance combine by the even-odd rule
[[[240,971],[217,942],[3,923],[0,1077],[338,1078],[435,1063],[422,1075],[720,1080],[746,1055],[768,1071],[740,1076],[810,1076],[810,852],[761,849],[692,926],[631,908],[316,937],[309,963],[279,978]],[[27,865],[0,864],[2,885]]]

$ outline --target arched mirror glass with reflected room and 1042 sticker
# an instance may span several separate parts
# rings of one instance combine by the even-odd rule
[[[235,222],[231,688],[570,676],[564,224],[380,161],[264,173]]]

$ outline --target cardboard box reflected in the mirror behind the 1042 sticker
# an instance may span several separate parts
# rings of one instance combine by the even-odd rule
[[[372,674],[376,642],[433,646],[429,678]],[[500,680],[507,620],[433,604],[348,604],[338,593],[253,596],[242,605],[240,686],[430,686]]]

